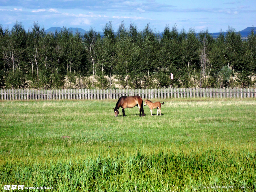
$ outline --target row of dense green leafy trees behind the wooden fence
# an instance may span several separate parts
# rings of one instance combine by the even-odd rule
[[[0,88],[163,88],[170,86],[170,73],[173,87],[256,86],[253,30],[242,39],[228,27],[214,39],[208,30],[166,26],[160,36],[149,24],[140,31],[124,22],[115,32],[109,22],[103,34],[0,25]]]

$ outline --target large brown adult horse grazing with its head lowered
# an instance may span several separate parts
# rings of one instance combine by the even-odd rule
[[[141,116],[141,112],[142,112],[142,116],[145,116],[144,110],[143,110],[143,99],[140,96],[138,95],[131,96],[131,97],[122,96],[119,98],[118,102],[116,103],[115,109],[113,108],[115,116],[116,117],[118,116],[119,114],[118,109],[120,107],[122,108],[123,116],[125,116],[124,109],[133,108],[135,106],[138,106],[140,110],[140,116]]]

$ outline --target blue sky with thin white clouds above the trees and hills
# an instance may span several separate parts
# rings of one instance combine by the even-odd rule
[[[256,25],[256,1],[159,1],[159,0],[0,0],[0,23],[9,26],[18,20],[26,29],[38,21],[45,29],[50,27],[102,26],[112,21],[116,30],[122,20],[126,26],[134,22],[142,30],[150,23],[162,32],[165,25],[177,25],[187,31],[208,28],[209,32],[226,31],[228,25],[237,31]]]

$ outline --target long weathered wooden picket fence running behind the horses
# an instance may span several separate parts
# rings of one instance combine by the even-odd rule
[[[143,99],[167,98],[255,98],[256,89],[198,89],[198,88],[166,88],[166,89],[1,89],[0,100],[61,100],[61,99],[118,99],[121,96],[139,95]]]

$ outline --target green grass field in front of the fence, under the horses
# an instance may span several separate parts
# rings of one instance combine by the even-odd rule
[[[0,190],[256,190],[255,99],[162,101],[116,118],[113,100],[0,102]]]

